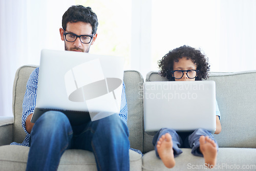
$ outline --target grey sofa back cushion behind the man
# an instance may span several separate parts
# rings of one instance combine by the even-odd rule
[[[38,66],[23,66],[16,71],[13,84],[13,141],[22,143],[26,133],[22,127],[22,103],[26,91],[26,84],[31,72]],[[142,84],[143,77],[137,71],[124,71],[124,84],[128,108],[127,125],[130,132],[131,147],[142,151],[143,144],[143,108]]]

